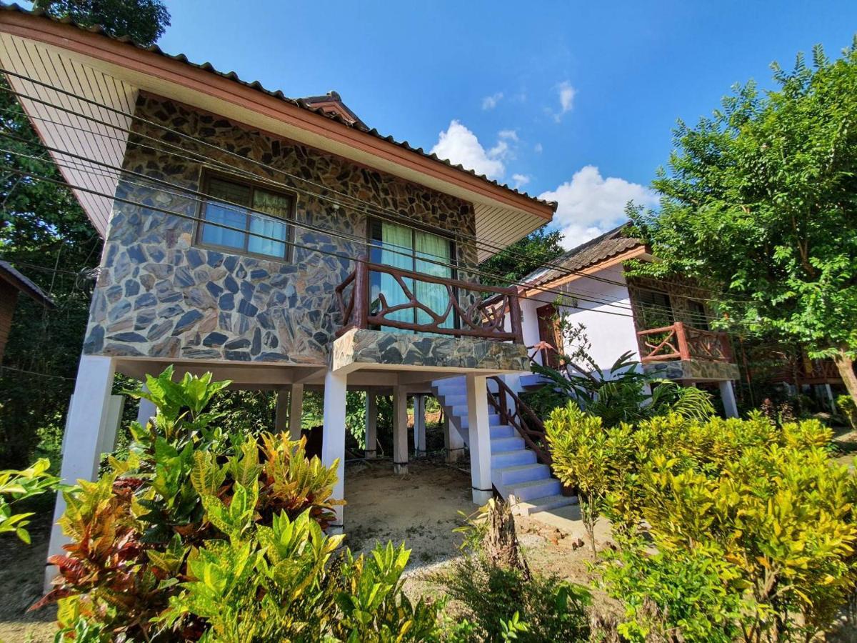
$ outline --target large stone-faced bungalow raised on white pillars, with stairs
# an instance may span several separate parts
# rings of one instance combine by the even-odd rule
[[[529,367],[518,291],[470,273],[555,203],[368,129],[336,93],[288,99],[39,12],[0,10],[0,64],[105,237],[66,481],[93,479],[112,443],[114,374],[175,364],[279,391],[277,428],[293,436],[303,390],[323,391],[321,460],[339,460],[337,498],[345,392],[365,390],[368,457],[377,395],[393,395],[404,471],[406,398],[434,393],[456,412],[450,450],[469,446],[474,502],[495,489],[536,508],[570,502],[488,395],[488,378]],[[334,529],[342,520],[339,508]],[[55,530],[51,552],[61,542]]]

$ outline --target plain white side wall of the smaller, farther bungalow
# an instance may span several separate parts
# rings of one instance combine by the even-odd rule
[[[621,285],[599,279],[620,282]],[[563,291],[565,297],[576,300],[573,302],[574,306],[561,307],[560,313],[565,322],[584,325],[591,344],[590,355],[602,370],[609,369],[626,351],[631,351],[633,358],[639,359],[631,298],[624,284],[622,267],[616,266],[551,289]],[[555,292],[542,292],[537,296],[537,300],[528,299],[521,302],[524,311],[524,343],[527,346],[533,346],[539,340],[536,308],[545,303],[556,303],[558,297],[560,296]]]

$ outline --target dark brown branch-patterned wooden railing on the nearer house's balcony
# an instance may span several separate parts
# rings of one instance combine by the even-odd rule
[[[387,302],[384,292],[369,301],[371,295],[371,276],[373,273],[390,275],[401,288],[405,298],[404,303],[391,304]],[[439,310],[437,303],[434,308],[428,303],[421,302],[416,294],[416,283],[438,284],[446,289],[443,309]],[[464,292],[473,292],[476,303],[464,307],[461,298]],[[484,299],[485,292],[494,296]],[[361,258],[357,267],[345,278],[336,289],[339,311],[342,314],[343,327],[337,336],[351,328],[399,328],[414,333],[433,333],[452,335],[454,337],[473,337],[482,340],[512,341],[515,344],[524,343],[521,328],[521,309],[518,303],[516,288],[500,288],[489,285],[473,284],[460,279],[445,279],[430,274],[415,273],[397,267],[371,263]],[[434,297],[436,298],[436,297]],[[389,315],[399,311],[411,311],[413,322],[393,319]],[[417,315],[417,312],[422,315]],[[506,315],[509,317],[510,330],[506,330]],[[397,315],[402,316],[402,315]],[[417,322],[419,317],[426,322]],[[455,328],[452,328],[455,327]]]

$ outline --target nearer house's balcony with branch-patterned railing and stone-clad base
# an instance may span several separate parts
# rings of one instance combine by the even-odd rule
[[[361,259],[334,294],[342,318],[334,370],[529,370],[514,287]]]

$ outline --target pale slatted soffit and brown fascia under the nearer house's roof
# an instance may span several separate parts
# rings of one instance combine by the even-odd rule
[[[103,165],[75,159],[63,152],[85,159],[95,159],[112,167],[122,166],[131,118],[118,111],[133,113],[137,93],[142,89],[472,202],[476,213],[476,237],[481,242],[479,261],[494,255],[495,248],[505,248],[547,223],[546,219],[536,214],[504,207],[487,197],[449,185],[434,177],[425,177],[386,159],[379,159],[369,153],[346,147],[338,141],[330,141],[272,117],[231,105],[222,99],[195,92],[189,87],[153,78],[112,63],[82,57],[53,45],[0,33],[0,64],[15,74],[53,87],[61,87],[66,92],[86,97],[98,104],[93,105],[86,100],[76,99],[51,87],[44,87],[16,76],[7,77],[15,92],[64,108],[57,109],[36,100],[21,98],[24,109],[33,119],[33,125],[45,145],[61,150],[51,152],[51,155],[60,166],[65,180],[71,185],[82,186],[102,195],[115,193],[118,172]],[[111,123],[115,127],[75,114],[84,114],[97,121]],[[94,195],[84,189],[74,191],[96,230],[104,237],[112,209],[111,197]]]

